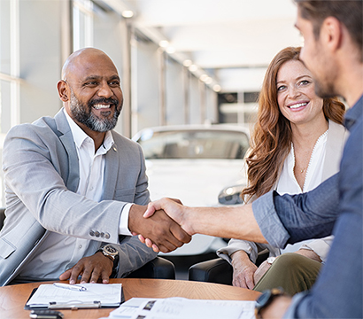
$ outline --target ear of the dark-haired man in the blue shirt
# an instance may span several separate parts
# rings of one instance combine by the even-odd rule
[[[341,22],[334,17],[324,19],[321,25],[321,37],[330,51],[338,50],[343,39]]]

